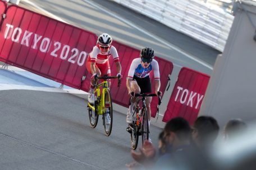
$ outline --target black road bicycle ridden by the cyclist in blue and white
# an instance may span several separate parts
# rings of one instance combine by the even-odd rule
[[[139,136],[141,135],[142,147],[145,139],[149,139],[149,120],[148,111],[146,107],[146,97],[157,96],[156,94],[135,94],[132,96],[140,97],[136,101],[134,111],[132,114],[132,123],[129,124],[126,131],[131,134],[131,148],[136,149],[138,146]],[[142,107],[140,108],[139,102],[142,101]],[[161,105],[161,92],[158,92],[158,106],[157,111]]]

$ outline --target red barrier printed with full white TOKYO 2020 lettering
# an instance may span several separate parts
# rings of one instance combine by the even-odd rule
[[[6,16],[0,31],[2,62],[80,88],[95,34],[17,6],[8,7]]]

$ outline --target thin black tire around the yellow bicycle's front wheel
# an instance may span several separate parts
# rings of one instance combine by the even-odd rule
[[[105,91],[105,97],[104,97],[104,103],[105,103],[105,106],[104,106],[104,109],[106,109],[106,101],[107,101],[107,96],[108,94],[108,102],[109,102],[109,118],[110,118],[110,124],[107,125],[107,122],[106,122],[106,118],[105,118],[105,110],[104,110],[104,114],[103,114],[103,125],[104,125],[104,130],[105,130],[105,135],[106,136],[109,136],[111,134],[111,131],[112,131],[112,125],[113,125],[113,107],[112,107],[112,98],[111,98],[111,94],[110,94],[110,91],[109,89],[106,89]]]

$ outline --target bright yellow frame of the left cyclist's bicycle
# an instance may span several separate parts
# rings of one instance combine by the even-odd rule
[[[102,89],[102,94],[100,95],[100,87],[103,87]],[[93,111],[96,110],[98,115],[103,115],[103,110],[104,110],[104,101],[105,101],[105,91],[108,89],[108,82],[104,80],[102,83],[98,84],[95,89],[95,93],[97,94],[97,102],[99,105],[95,108],[88,102],[88,106],[92,108]]]

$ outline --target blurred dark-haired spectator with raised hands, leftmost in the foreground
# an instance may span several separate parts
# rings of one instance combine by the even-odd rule
[[[184,164],[184,159],[189,153],[191,128],[185,119],[175,117],[167,122],[163,130],[164,141],[168,152],[157,156],[157,149],[149,141],[145,141],[144,148],[139,152],[131,151],[131,156],[144,167],[152,169],[170,169]],[[188,151],[187,151],[188,150]],[[175,159],[173,159],[175,158]],[[185,160],[186,162],[186,160]]]

